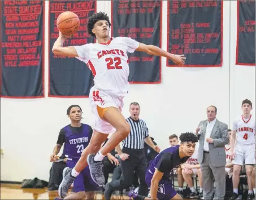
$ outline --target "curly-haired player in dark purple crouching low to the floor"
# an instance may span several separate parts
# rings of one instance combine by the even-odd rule
[[[180,145],[164,149],[151,161],[146,171],[146,183],[150,187],[151,197],[138,195],[133,190],[128,193],[134,200],[146,199],[182,199],[172,186],[170,176],[173,168],[180,167],[192,156],[198,137],[186,132],[180,135]],[[199,145],[199,144],[197,144]]]

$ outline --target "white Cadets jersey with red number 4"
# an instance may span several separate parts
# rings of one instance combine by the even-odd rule
[[[242,115],[233,122],[233,131],[236,131],[237,144],[255,144],[255,118],[250,115],[249,119],[244,119]]]

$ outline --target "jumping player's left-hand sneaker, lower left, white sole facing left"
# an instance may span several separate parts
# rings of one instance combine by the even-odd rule
[[[75,180],[75,177],[71,176],[72,168],[65,167],[62,173],[62,183],[59,185],[59,196],[61,198],[66,197],[68,194],[68,189],[70,189],[70,186],[72,185],[73,181]]]

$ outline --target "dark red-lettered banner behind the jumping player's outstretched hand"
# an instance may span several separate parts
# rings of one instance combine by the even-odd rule
[[[167,20],[167,51],[184,66],[222,66],[223,1],[168,1]]]

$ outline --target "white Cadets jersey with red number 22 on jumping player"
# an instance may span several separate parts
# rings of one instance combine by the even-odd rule
[[[94,87],[114,96],[126,96],[129,91],[129,60],[139,43],[127,37],[111,38],[107,43],[89,43],[76,48],[77,59],[88,65],[94,75]]]

